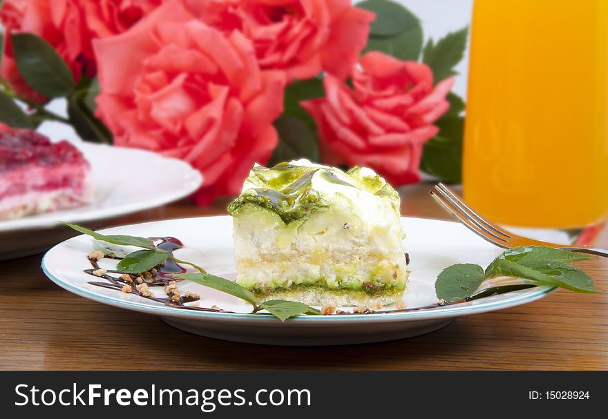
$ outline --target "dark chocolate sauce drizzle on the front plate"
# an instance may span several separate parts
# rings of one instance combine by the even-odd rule
[[[148,238],[150,240],[152,240],[153,242],[158,242],[158,244],[155,244],[155,247],[157,249],[167,251],[167,253],[169,253],[169,255],[171,255],[171,256],[173,256],[173,252],[175,250],[182,249],[182,247],[184,246],[182,244],[182,242],[180,242],[180,240],[176,239],[175,237],[148,237]],[[104,258],[115,259],[115,260],[122,259],[122,257],[117,257],[113,253],[104,255]],[[407,253],[406,253],[406,258],[407,258],[407,263],[409,264],[409,255]],[[89,260],[89,262],[91,262],[91,266],[93,266],[93,269],[85,269],[84,273],[87,273],[88,275],[93,275],[95,277],[103,278],[104,280],[108,281],[108,282],[89,281],[88,284],[100,286],[100,287],[106,288],[106,289],[114,289],[114,290],[121,291],[121,292],[125,285],[131,285],[131,292],[130,292],[131,294],[138,295],[141,298],[146,298],[147,300],[152,300],[152,301],[158,302],[160,304],[164,304],[165,306],[169,306],[173,309],[211,311],[213,313],[236,313],[235,311],[226,311],[226,310],[222,310],[222,309],[187,306],[187,305],[185,305],[185,303],[199,300],[199,298],[194,298],[194,297],[190,297],[190,296],[189,297],[181,296],[180,301],[174,301],[174,300],[171,300],[171,298],[169,298],[169,297],[160,298],[160,297],[155,297],[154,295],[143,295],[142,293],[140,293],[140,291],[137,291],[137,283],[136,283],[137,277],[135,275],[130,274],[133,282],[127,282],[125,280],[122,280],[122,278],[120,278],[120,275],[123,275],[126,272],[117,271],[117,270],[113,270],[113,269],[108,269],[104,275],[98,276],[98,275],[95,275],[95,273],[94,273],[95,271],[97,271],[97,269],[99,269],[99,264],[97,264],[97,260],[91,259],[90,257],[88,258],[88,260]],[[184,269],[183,266],[181,266],[180,264],[176,263],[175,261],[173,261],[171,259],[167,259],[165,261],[164,265],[155,266],[155,269],[156,269],[156,273],[153,275],[152,279],[144,280],[144,282],[142,282],[142,283],[147,284],[148,286],[167,286],[167,285],[169,285],[169,282],[171,282],[171,281],[175,281],[175,282],[184,281],[184,280],[182,280],[182,278],[176,278],[176,277],[173,277],[172,275],[175,275],[176,273],[185,273],[186,269]],[[108,275],[108,273],[117,274],[117,275],[119,275],[119,277]],[[456,304],[462,304],[464,302],[478,300],[479,298],[486,298],[491,295],[508,293],[511,291],[518,291],[521,289],[528,289],[528,288],[532,288],[533,286],[535,286],[535,285],[516,284],[516,285],[505,285],[505,286],[493,286],[491,288],[479,291],[478,293],[475,293],[474,295],[471,295],[470,297],[465,298],[464,300],[461,300],[461,301],[457,301],[457,302],[441,301],[441,302],[437,302],[436,304],[419,306],[419,307],[415,307],[412,309],[393,309],[393,310],[380,310],[380,311],[374,311],[374,310],[367,309],[363,313],[353,313],[352,311],[339,311],[335,315],[405,313],[408,311],[437,309],[437,308],[443,307],[443,306],[448,306],[448,305],[453,306]],[[265,314],[265,313],[258,313],[258,314]]]

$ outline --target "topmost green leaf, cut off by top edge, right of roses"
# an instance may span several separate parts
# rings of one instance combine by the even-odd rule
[[[412,26],[420,26],[418,18],[395,1],[366,0],[358,3],[357,7],[376,14],[370,25],[370,35],[374,37],[395,37]]]

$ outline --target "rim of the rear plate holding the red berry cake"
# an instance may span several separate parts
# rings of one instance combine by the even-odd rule
[[[158,159],[166,159],[171,160],[173,164],[177,164],[181,166],[184,170],[184,182],[182,182],[183,188],[179,190],[174,190],[173,188],[164,195],[154,196],[151,199],[147,199],[144,201],[135,201],[121,204],[119,206],[113,206],[110,208],[104,208],[102,210],[98,208],[94,208],[91,211],[86,211],[84,213],[74,213],[72,216],[67,217],[69,220],[64,220],[66,222],[95,222],[100,220],[107,220],[110,218],[118,217],[121,215],[129,215],[133,213],[137,213],[138,211],[144,211],[146,209],[157,208],[158,206],[162,206],[164,204],[169,204],[177,199],[182,197],[186,197],[191,193],[195,192],[200,186],[202,186],[204,182],[204,178],[202,174],[194,169],[190,164],[184,162],[180,159],[175,159],[174,157],[167,157],[164,155],[160,155],[158,153],[153,153],[149,150],[143,150],[141,148],[128,148],[128,147],[119,147],[119,146],[110,146],[108,144],[95,144],[95,143],[85,143],[82,142],[78,144],[78,147],[84,148],[97,148],[102,147],[106,150],[111,150],[110,153],[138,153],[143,155],[148,155],[149,157],[154,156]],[[38,221],[38,222],[36,222]],[[11,225],[13,224],[13,225]],[[50,230],[53,228],[60,227],[57,222],[51,222],[49,220],[36,220],[31,217],[24,217],[18,220],[5,220],[0,221],[0,234],[4,233],[16,233],[19,231],[36,231],[36,230]]]

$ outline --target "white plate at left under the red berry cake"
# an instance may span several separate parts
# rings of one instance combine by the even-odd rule
[[[190,195],[202,176],[186,162],[134,148],[80,142],[77,147],[91,163],[93,202],[55,211],[0,221],[0,260],[33,255],[73,235],[57,221],[99,223],[154,208]]]

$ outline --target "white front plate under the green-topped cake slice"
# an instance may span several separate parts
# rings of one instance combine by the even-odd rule
[[[402,218],[411,262],[410,281],[404,300],[408,308],[437,302],[435,278],[446,266],[466,262],[486,266],[500,249],[484,242],[461,224],[453,222]],[[232,279],[236,276],[232,243],[232,223],[228,216],[199,217],[134,224],[102,230],[102,233],[173,236],[184,243],[175,252],[182,260],[195,262],[209,273]],[[353,344],[408,338],[435,331],[453,318],[506,309],[532,302],[554,289],[540,286],[522,291],[493,295],[462,304],[434,309],[367,315],[302,315],[281,322],[269,315],[252,315],[251,306],[230,295],[191,282],[180,282],[180,291],[202,295],[200,306],[214,304],[237,313],[209,313],[177,309],[137,295],[104,289],[88,284],[95,280],[83,272],[91,268],[86,255],[93,246],[91,237],[73,237],[50,249],[42,260],[42,269],[64,289],[109,304],[143,313],[159,315],[165,322],[200,335],[238,342],[285,345]],[[114,261],[102,260],[111,267]],[[158,296],[166,296],[162,288]],[[390,309],[390,307],[388,307]]]

